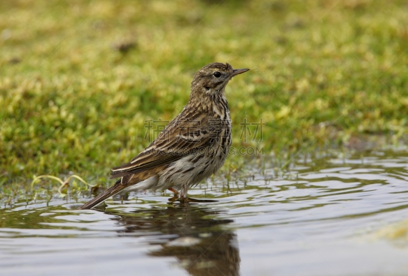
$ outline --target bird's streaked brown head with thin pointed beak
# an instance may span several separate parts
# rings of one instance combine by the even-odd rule
[[[234,69],[228,63],[214,62],[202,67],[191,83],[191,91],[206,94],[222,93],[226,84],[237,74],[249,69]]]

